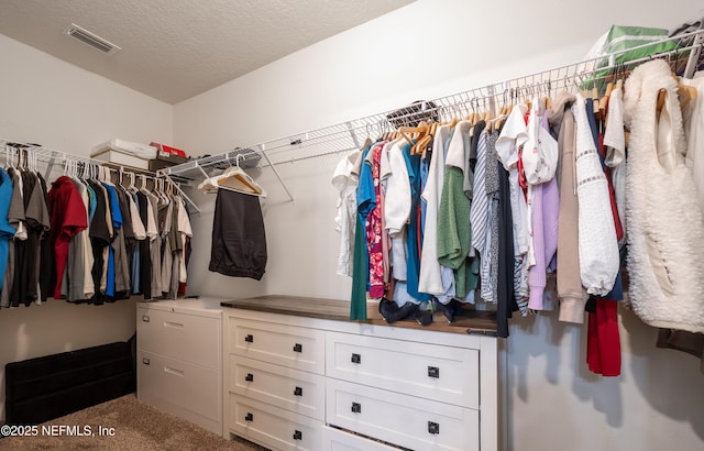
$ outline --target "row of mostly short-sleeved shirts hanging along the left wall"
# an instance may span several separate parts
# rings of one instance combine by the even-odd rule
[[[169,208],[178,213],[178,241],[191,235],[183,200],[161,189],[109,180],[107,168],[92,176],[92,167],[69,165],[51,184],[28,164],[32,150],[13,150],[18,161],[7,157],[0,169],[0,307],[42,304],[47,298],[74,304],[101,305],[132,295],[176,296],[163,289],[162,261],[177,260],[167,285],[186,280],[184,245],[166,250],[157,240],[155,213]],[[9,150],[6,153],[10,154]],[[51,170],[50,170],[51,172]],[[90,174],[89,174],[90,172]],[[47,172],[48,173],[48,172]],[[156,183],[155,183],[156,185]]]

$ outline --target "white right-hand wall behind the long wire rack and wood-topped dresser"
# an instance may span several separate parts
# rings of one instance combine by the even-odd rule
[[[220,153],[580,61],[612,24],[670,28],[696,15],[689,0],[468,2],[420,0],[232,80],[174,110],[174,139]],[[334,274],[338,235],[330,176],[340,155],[270,169],[257,180],[270,251],[261,283],[207,272],[212,199],[196,198],[190,290],[346,299]],[[623,375],[585,369],[584,329],[552,315],[515,320],[507,342],[508,449],[700,450],[704,376],[697,362],[656,350],[653,331],[623,315]]]

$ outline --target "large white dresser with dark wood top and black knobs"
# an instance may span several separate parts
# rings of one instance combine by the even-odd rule
[[[497,339],[463,319],[346,321],[349,304],[223,309],[224,436],[274,450],[497,450]],[[487,321],[483,321],[485,326]]]

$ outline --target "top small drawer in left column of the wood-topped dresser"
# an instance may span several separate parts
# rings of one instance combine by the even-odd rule
[[[228,321],[229,353],[323,374],[323,331],[234,317]]]

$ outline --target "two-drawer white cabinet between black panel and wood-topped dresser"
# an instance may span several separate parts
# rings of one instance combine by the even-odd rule
[[[222,299],[136,304],[138,398],[222,433]]]

